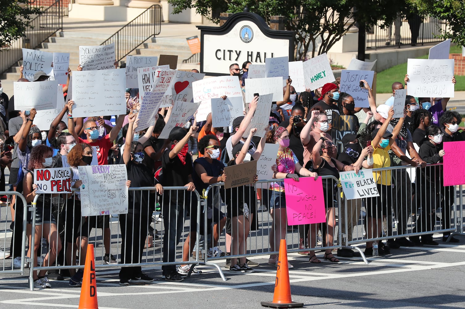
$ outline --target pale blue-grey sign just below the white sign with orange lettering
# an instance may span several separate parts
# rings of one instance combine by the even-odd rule
[[[232,126],[235,118],[244,115],[244,101],[242,101],[241,96],[232,98],[228,97],[226,100],[223,100],[222,98],[210,100],[212,106],[213,128]]]

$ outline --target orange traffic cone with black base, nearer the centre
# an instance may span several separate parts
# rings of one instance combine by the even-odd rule
[[[276,272],[276,283],[274,284],[273,301],[261,302],[261,305],[269,308],[302,308],[304,306],[302,302],[292,302],[291,299],[286,239],[281,239],[279,244],[278,270]]]

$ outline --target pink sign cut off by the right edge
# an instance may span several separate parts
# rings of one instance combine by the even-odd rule
[[[447,141],[443,143],[444,185],[465,184],[465,141]]]

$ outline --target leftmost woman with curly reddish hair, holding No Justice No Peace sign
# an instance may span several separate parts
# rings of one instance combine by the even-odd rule
[[[35,146],[29,157],[29,165],[27,166],[27,173],[23,179],[23,195],[26,202],[33,202],[37,194],[37,185],[34,184],[34,169],[48,168],[52,164],[53,149],[45,145]],[[50,195],[40,195],[36,201],[35,218],[32,214],[28,217],[27,234],[29,235],[29,250],[28,256],[31,256],[31,249],[37,252],[42,237],[46,238],[49,243],[49,251],[44,258],[44,262],[40,266],[53,265],[56,256],[61,250],[60,234],[57,231],[56,220],[52,215],[52,200]],[[31,244],[32,225],[34,224],[34,246]],[[33,258],[34,267],[37,266],[37,259]],[[33,273],[33,284],[35,288],[51,288],[48,278],[45,276],[46,270],[40,270],[37,274]]]

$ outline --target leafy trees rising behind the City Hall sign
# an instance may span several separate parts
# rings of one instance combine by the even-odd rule
[[[294,31],[295,59],[304,60],[328,50],[339,41],[356,22],[374,25],[383,20],[382,27],[394,20],[403,0],[168,0],[173,13],[187,8],[218,23],[211,12],[242,12],[248,7],[267,23],[273,15],[286,17],[286,30]],[[359,9],[358,9],[359,8]]]

